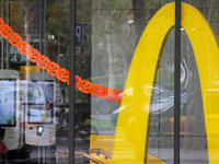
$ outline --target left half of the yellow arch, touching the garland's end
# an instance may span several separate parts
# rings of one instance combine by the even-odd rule
[[[161,8],[146,27],[136,48],[118,115],[113,149],[114,164],[143,164],[148,116],[157,62],[174,25],[174,3]],[[129,92],[132,90],[132,92]]]

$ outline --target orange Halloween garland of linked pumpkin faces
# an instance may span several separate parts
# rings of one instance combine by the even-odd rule
[[[18,47],[18,50],[22,55],[26,55],[27,59],[36,65],[41,69],[45,69],[49,74],[57,77],[58,80],[67,82],[69,84],[69,71],[67,69],[60,68],[56,62],[50,61],[46,56],[41,55],[41,52],[32,48],[31,45],[22,40],[22,37],[13,33],[13,30],[8,24],[4,24],[4,21],[0,17],[0,35],[9,39],[9,43]],[[100,84],[92,84],[88,80],[82,80],[79,75],[74,75],[74,87],[79,89],[83,93],[91,93],[95,97],[104,97],[107,101],[116,101],[120,103],[123,96],[123,90],[116,91],[112,87],[104,87]]]

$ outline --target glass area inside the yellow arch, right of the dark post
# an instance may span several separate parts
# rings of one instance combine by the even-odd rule
[[[191,42],[182,28],[181,161],[208,163],[200,82]],[[194,155],[194,153],[196,155]],[[193,154],[193,155],[192,155]],[[199,156],[197,160],[197,156]]]

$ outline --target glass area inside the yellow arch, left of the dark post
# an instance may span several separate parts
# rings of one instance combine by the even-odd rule
[[[153,93],[148,152],[166,163],[173,163],[174,28],[162,51]]]

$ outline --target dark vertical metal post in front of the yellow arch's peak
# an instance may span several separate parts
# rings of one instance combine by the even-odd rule
[[[175,0],[174,164],[180,164],[181,0]]]

